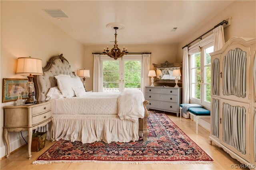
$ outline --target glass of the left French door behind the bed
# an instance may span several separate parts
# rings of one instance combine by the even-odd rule
[[[119,92],[119,61],[103,61],[103,92]]]

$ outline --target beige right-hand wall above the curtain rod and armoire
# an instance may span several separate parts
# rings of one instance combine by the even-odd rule
[[[216,16],[209,18],[209,21],[199,29],[188,30],[187,36],[184,36],[184,40],[178,45],[177,61],[182,61],[183,46],[204,34],[222,20],[228,19],[228,17],[232,18],[231,25],[224,28],[225,42],[231,37],[256,37],[256,1],[234,1]]]

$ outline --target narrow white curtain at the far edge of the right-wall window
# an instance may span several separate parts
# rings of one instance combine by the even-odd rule
[[[189,74],[188,74],[188,47],[183,49],[183,71],[182,71],[182,103],[189,103]]]

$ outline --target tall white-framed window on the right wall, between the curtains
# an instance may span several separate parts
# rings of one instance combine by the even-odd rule
[[[190,100],[192,103],[210,107],[211,101],[211,57],[213,42],[190,55]]]

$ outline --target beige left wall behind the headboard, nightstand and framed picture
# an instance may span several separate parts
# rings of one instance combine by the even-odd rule
[[[77,72],[84,67],[84,45],[64,33],[61,29],[44,20],[22,1],[0,1],[1,3],[1,85],[3,78],[26,78],[16,75],[18,57],[42,59],[46,66],[50,57],[60,55],[69,61],[71,69]],[[2,87],[0,88],[2,99]],[[0,113],[0,158],[6,155],[4,141],[3,106],[14,102],[1,103]],[[27,132],[23,132],[24,135]],[[9,133],[10,151],[24,144],[20,133]]]

